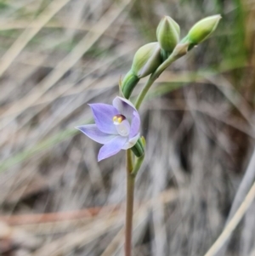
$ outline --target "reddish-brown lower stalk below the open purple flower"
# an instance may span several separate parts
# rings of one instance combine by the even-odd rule
[[[125,256],[132,253],[132,227],[133,227],[133,191],[135,175],[133,171],[132,151],[127,150],[127,205],[126,205],[126,236],[125,236]]]

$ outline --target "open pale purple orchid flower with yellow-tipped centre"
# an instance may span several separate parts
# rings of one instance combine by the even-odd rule
[[[129,100],[116,97],[112,105],[96,103],[89,106],[93,111],[95,124],[78,126],[77,129],[103,144],[98,161],[136,144],[139,139],[140,117]]]

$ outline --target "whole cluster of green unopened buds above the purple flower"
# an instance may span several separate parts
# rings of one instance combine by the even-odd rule
[[[195,45],[203,42],[218,26],[220,15],[209,16],[195,23],[181,41],[178,23],[164,16],[156,29],[157,42],[147,43],[133,57],[131,70],[122,81],[122,94],[129,98],[140,78],[152,74],[171,54],[184,55]],[[181,51],[181,53],[178,53]]]

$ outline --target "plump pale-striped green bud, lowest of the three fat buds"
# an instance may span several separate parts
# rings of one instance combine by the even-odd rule
[[[158,43],[147,43],[134,54],[131,71],[139,78],[147,77],[161,65],[161,48]]]

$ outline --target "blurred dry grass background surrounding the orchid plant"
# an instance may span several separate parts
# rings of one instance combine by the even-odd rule
[[[111,104],[166,14],[182,37],[223,19],[140,109],[133,255],[204,255],[224,229],[255,177],[255,1],[1,0],[0,255],[123,255],[124,151],[97,162],[74,127]],[[218,256],[255,255],[254,214]]]

